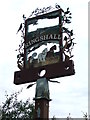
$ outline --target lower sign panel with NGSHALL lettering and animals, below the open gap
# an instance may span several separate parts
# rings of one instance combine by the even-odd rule
[[[49,49],[47,48],[47,43],[55,43],[59,44],[61,39],[61,35],[59,34],[59,25],[47,28],[39,28],[36,31],[28,33],[26,37],[26,68],[40,67],[53,63],[57,63],[60,61],[60,54],[58,52],[54,52],[57,49],[56,45],[52,45]],[[39,49],[42,45],[45,45],[45,48],[42,49],[42,52],[37,53],[35,51]],[[40,50],[41,51],[41,50]]]

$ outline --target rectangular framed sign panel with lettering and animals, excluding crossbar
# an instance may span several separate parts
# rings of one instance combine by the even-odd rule
[[[29,25],[31,24],[35,25],[39,19],[54,19],[57,17],[59,18],[58,20],[59,24],[56,26],[37,28],[37,30],[31,31],[31,32],[28,31]],[[61,33],[61,24],[60,24],[61,21],[60,20],[61,20],[61,9],[50,12],[50,13],[46,13],[43,15],[39,15],[37,17],[28,18],[25,21],[25,52],[24,52],[25,54],[24,67],[25,68],[29,68],[32,65],[34,67],[36,66],[39,67],[42,65],[45,66],[47,64],[51,64],[50,62],[51,56],[52,57],[56,56],[58,60],[62,59],[62,52],[60,51],[61,49],[60,46],[62,46],[62,33]],[[47,46],[46,46],[45,48],[43,48],[40,54],[38,54],[37,52],[34,52],[34,54],[31,54],[31,52],[40,48],[42,45],[47,45],[47,43],[58,44],[59,45],[58,53],[55,53],[55,50],[57,49],[57,47],[54,45],[54,46],[51,46],[49,50],[47,49]]]

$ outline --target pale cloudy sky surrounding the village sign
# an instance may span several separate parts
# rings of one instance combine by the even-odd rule
[[[19,99],[30,102],[35,96],[35,86],[26,89],[27,84],[15,85],[14,72],[17,68],[17,52],[20,33],[16,34],[22,15],[29,17],[38,8],[59,4],[64,10],[72,12],[70,27],[74,30],[75,42],[73,60],[75,75],[56,78],[60,84],[49,83],[50,102],[49,116],[81,118],[88,112],[88,0],[3,0],[0,1],[0,104],[5,101],[5,91],[12,94],[23,88]]]

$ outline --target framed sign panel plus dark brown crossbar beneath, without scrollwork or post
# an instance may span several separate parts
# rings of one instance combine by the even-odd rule
[[[63,59],[61,10],[28,18],[25,21],[24,68],[14,73],[14,84],[36,82],[41,78],[39,73],[45,70],[43,77],[53,79],[75,74],[73,60]],[[30,24],[36,24],[39,19],[59,18],[59,24],[37,28],[28,32]],[[51,47],[47,44],[52,43]],[[42,50],[41,50],[42,46]],[[57,51],[58,49],[58,51]],[[39,53],[37,52],[39,50]]]

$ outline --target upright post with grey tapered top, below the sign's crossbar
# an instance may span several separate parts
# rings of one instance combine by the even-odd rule
[[[49,119],[49,85],[46,78],[40,78],[36,82],[35,93],[35,119]]]

